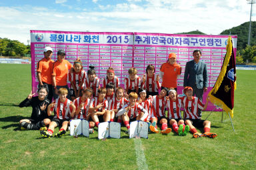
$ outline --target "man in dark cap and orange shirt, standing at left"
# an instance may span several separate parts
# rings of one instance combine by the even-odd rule
[[[65,51],[60,49],[57,53],[57,61],[53,63],[53,98],[57,99],[59,97],[58,90],[60,88],[66,88],[68,90],[67,98],[70,98],[69,87],[67,86],[67,74],[72,65],[69,61],[65,60]]]

